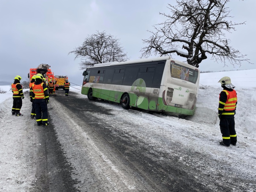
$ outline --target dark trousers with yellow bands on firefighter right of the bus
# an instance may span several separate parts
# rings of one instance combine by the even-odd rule
[[[230,143],[236,144],[235,118],[221,118],[219,126],[221,128],[223,143],[226,145],[230,145]]]

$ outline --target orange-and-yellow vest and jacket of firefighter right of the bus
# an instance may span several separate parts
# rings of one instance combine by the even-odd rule
[[[225,96],[227,97],[223,97]],[[219,94],[219,113],[222,114],[223,117],[234,117],[236,105],[237,105],[237,93],[235,90],[223,90]],[[226,99],[223,100],[223,99]]]

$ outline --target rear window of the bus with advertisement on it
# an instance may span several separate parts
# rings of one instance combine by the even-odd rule
[[[171,62],[171,76],[172,78],[182,79],[191,83],[196,83],[198,71]]]

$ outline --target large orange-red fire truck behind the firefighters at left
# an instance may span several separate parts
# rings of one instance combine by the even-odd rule
[[[29,74],[27,74],[27,77],[28,77],[28,78],[30,79],[30,81],[31,81],[33,75],[42,74],[43,77],[45,78],[46,86],[48,87],[49,96],[56,96],[56,93],[55,93],[55,86],[54,86],[54,81],[55,81],[54,73],[52,72],[52,70],[50,69],[50,67],[51,67],[51,66],[48,65],[48,64],[40,64],[40,65],[38,65],[37,68],[31,68]],[[50,91],[49,91],[49,86],[48,86],[50,80],[52,80],[52,82],[53,82],[53,92],[52,92],[52,93],[50,93]]]

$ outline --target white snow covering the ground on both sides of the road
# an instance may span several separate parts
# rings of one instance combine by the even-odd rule
[[[222,140],[219,130],[218,99],[222,88],[219,79],[223,76],[229,76],[232,83],[236,86],[238,104],[235,116],[237,131],[237,146],[229,148],[220,146],[218,141]],[[72,81],[71,81],[72,82]],[[72,83],[71,83],[72,86]],[[1,90],[9,91],[10,86],[0,86]],[[24,90],[26,92],[28,90]],[[72,86],[71,91],[80,93],[79,86]],[[71,92],[72,93],[72,92]],[[28,97],[28,95],[27,95]],[[86,95],[79,95],[86,98]],[[28,101],[28,98],[26,101]],[[97,103],[97,102],[96,102]],[[111,108],[113,113],[118,116],[124,111],[121,106],[111,105],[107,102],[99,102],[97,105]],[[126,132],[144,137],[145,140],[151,140],[151,144],[159,147],[162,132],[169,132],[169,136],[164,138],[171,139],[171,142],[179,142],[188,148],[211,155],[217,161],[234,163],[234,165],[248,167],[249,174],[256,173],[256,69],[241,71],[225,71],[200,74],[200,89],[197,98],[197,109],[193,117],[187,117],[186,120],[172,116],[162,116],[159,114],[151,115],[145,112],[138,112],[140,122],[137,119],[132,120],[137,123],[136,127],[127,127]],[[0,94],[0,191],[27,191],[31,186],[33,179],[25,170],[33,173],[35,167],[26,167],[27,161],[33,161],[27,157],[23,151],[33,150],[33,145],[37,144],[29,139],[29,130],[31,124],[26,118],[11,116],[12,93]],[[21,113],[29,114],[31,103],[24,102]],[[124,121],[131,121],[134,114],[125,113]],[[97,115],[97,114],[95,114]],[[29,115],[27,115],[29,118]],[[110,117],[101,116],[105,121],[111,121]],[[114,116],[113,116],[114,118]],[[114,122],[114,120],[113,120]],[[9,129],[2,129],[1,125],[10,125]],[[147,130],[147,124],[153,124]],[[27,126],[26,126],[27,125]],[[154,127],[154,128],[152,128]],[[154,138],[148,138],[147,135],[138,135],[139,129],[155,133]],[[182,136],[182,140],[180,139]],[[162,150],[168,150],[168,144],[161,146]],[[27,149],[26,149],[27,148]],[[168,153],[168,151],[167,151]],[[171,151],[169,151],[171,153]],[[185,157],[181,157],[184,159]],[[25,166],[20,166],[25,165]],[[28,165],[28,164],[27,164]],[[212,167],[213,169],[215,167]],[[240,169],[240,167],[236,167]],[[246,168],[247,169],[247,168]],[[245,169],[244,169],[245,170]]]

